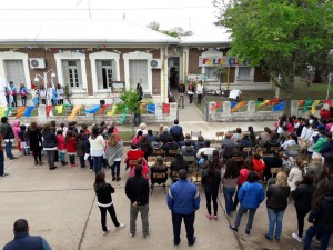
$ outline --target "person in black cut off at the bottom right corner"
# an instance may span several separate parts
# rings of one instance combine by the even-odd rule
[[[333,181],[327,181],[326,193],[320,198],[309,214],[309,222],[312,224],[306,231],[304,250],[311,248],[311,241],[317,233],[321,234],[321,249],[327,249],[333,232]]]

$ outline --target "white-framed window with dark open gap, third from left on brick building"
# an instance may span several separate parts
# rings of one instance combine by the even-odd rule
[[[98,89],[109,89],[115,80],[115,62],[114,60],[97,60]]]

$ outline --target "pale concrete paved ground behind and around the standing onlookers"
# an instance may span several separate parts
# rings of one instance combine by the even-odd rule
[[[14,151],[18,154],[17,151]],[[165,203],[162,188],[157,187],[150,197],[151,237],[143,239],[141,221],[138,218],[138,233],[129,237],[130,203],[124,194],[128,172],[122,164],[120,182],[112,182],[115,188],[113,202],[119,221],[127,227],[115,231],[110,218],[108,226],[111,231],[102,236],[100,212],[92,189],[94,173],[89,169],[60,167],[54,171],[47,166],[34,166],[32,157],[20,157],[14,161],[6,161],[9,177],[0,179],[0,248],[12,239],[12,224],[19,218],[30,223],[31,234],[43,236],[58,250],[103,250],[103,249],[174,249],[172,243],[171,214]],[[108,170],[107,181],[111,181]],[[201,207],[196,212],[195,234],[198,240],[192,249],[302,249],[302,244],[291,238],[296,229],[296,216],[293,204],[287,207],[284,217],[283,233],[280,242],[264,239],[268,230],[268,216],[264,203],[255,216],[251,236],[244,233],[246,216],[244,216],[239,233],[228,228],[223,216],[223,196],[219,194],[219,221],[209,221],[205,217],[205,198],[203,189]],[[234,217],[231,221],[234,220]],[[307,224],[305,226],[307,228]],[[182,242],[178,249],[188,249],[184,228]],[[333,249],[331,247],[331,249]]]

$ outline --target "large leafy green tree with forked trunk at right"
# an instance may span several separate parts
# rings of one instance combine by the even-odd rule
[[[231,31],[230,54],[260,64],[284,90],[290,112],[297,67],[333,48],[333,1],[215,0],[214,4],[221,11],[218,24]]]

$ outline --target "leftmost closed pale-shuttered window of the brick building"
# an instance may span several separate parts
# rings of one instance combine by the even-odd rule
[[[22,60],[4,60],[6,77],[16,86],[20,83],[26,84],[24,67]]]

